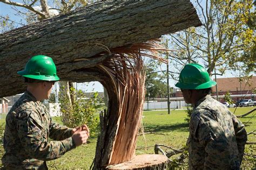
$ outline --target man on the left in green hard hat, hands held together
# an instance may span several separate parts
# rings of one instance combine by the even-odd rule
[[[70,129],[54,123],[42,104],[59,80],[50,57],[33,56],[18,74],[24,77],[27,89],[6,116],[2,163],[4,169],[47,169],[45,161],[85,144],[89,129],[86,125]]]

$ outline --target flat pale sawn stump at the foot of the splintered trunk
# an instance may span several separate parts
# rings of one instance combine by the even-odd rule
[[[161,154],[142,154],[136,155],[134,159],[108,166],[106,169],[166,169],[168,158]]]

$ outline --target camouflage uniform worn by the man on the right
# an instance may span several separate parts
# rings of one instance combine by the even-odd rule
[[[239,169],[247,134],[227,107],[210,95],[194,106],[188,138],[190,169]]]

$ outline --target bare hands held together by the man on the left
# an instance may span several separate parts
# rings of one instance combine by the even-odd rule
[[[72,129],[72,133],[72,139],[75,141],[76,146],[85,144],[90,137],[90,130],[86,125]]]

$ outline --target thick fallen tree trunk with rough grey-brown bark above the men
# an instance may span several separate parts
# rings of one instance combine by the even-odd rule
[[[102,45],[129,46],[199,25],[188,0],[111,1],[0,34],[0,97],[23,92],[17,71],[33,55],[51,56],[62,80],[100,81],[92,67],[104,57],[92,57],[105,51]]]

